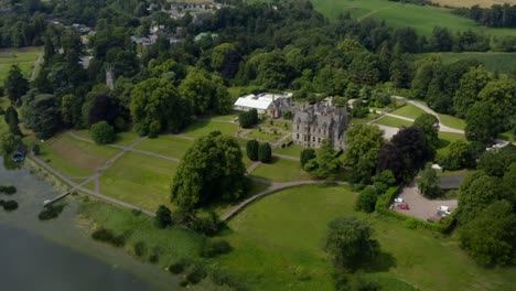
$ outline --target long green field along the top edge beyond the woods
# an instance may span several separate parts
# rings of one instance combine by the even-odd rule
[[[387,0],[313,0],[315,10],[330,19],[350,13],[353,18],[363,20],[374,18],[385,20],[391,26],[411,26],[419,33],[430,35],[433,28],[444,26],[452,31],[473,30],[492,35],[516,35],[512,29],[481,28],[473,20],[454,15],[449,9],[422,7],[391,2]]]

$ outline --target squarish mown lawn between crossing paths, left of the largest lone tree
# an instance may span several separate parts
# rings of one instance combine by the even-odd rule
[[[105,195],[157,211],[160,204],[172,206],[170,187],[179,163],[128,152],[100,176]]]

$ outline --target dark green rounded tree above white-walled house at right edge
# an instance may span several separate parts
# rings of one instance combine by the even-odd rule
[[[495,112],[495,106],[485,101],[475,103],[467,110],[464,131],[469,141],[488,143],[502,132],[502,120]]]

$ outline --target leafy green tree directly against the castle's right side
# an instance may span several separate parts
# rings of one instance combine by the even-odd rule
[[[365,157],[372,164],[375,164],[381,143],[384,143],[383,136],[381,129],[369,125],[356,125],[347,129],[345,163],[354,166],[362,157]]]

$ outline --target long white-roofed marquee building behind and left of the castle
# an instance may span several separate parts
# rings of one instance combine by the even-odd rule
[[[236,100],[233,109],[238,111],[249,111],[256,109],[260,115],[268,115],[271,118],[281,117],[281,109],[290,107],[290,97],[292,94],[269,94],[261,93],[258,95],[249,94]]]

